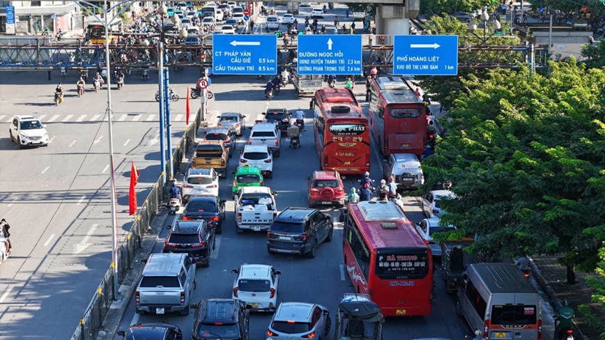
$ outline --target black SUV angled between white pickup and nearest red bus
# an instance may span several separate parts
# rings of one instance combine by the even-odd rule
[[[314,258],[321,242],[330,242],[332,217],[312,208],[286,208],[275,217],[267,233],[269,254],[305,254]]]

